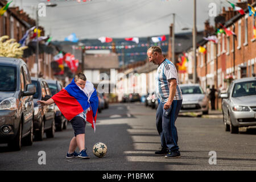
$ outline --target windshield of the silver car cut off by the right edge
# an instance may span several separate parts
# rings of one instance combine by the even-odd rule
[[[232,97],[250,96],[255,94],[256,81],[246,81],[234,85]]]

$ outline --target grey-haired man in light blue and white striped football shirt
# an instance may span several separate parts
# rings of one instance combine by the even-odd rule
[[[162,149],[155,154],[166,155],[166,158],[179,158],[175,121],[182,104],[182,93],[177,70],[175,65],[162,55],[162,49],[158,46],[150,47],[147,56],[150,62],[159,65],[155,78],[155,93],[160,100],[156,111],[156,129],[160,135]]]

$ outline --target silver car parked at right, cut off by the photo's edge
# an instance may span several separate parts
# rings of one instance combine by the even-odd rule
[[[226,131],[238,133],[239,127],[256,125],[256,77],[234,80],[221,98]]]

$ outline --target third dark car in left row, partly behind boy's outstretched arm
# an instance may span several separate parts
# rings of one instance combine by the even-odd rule
[[[61,83],[57,80],[46,80],[46,82],[49,85],[49,89],[51,90],[51,96],[60,92],[60,90],[63,88]],[[62,131],[67,129],[68,119],[64,117],[64,115],[61,113],[59,107],[56,104],[54,105],[54,113],[56,131]]]

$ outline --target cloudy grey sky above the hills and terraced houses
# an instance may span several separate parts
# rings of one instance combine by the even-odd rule
[[[193,27],[193,0],[13,0],[10,7],[19,6],[35,19],[39,3],[57,4],[46,7],[46,16],[39,17],[39,25],[53,41],[64,40],[72,33],[79,39],[169,34],[173,13],[175,32],[192,31]],[[216,5],[217,14],[223,6],[230,7],[224,0],[197,0],[196,26],[199,31],[204,30],[205,20],[214,23],[214,16],[209,16],[210,3]]]

